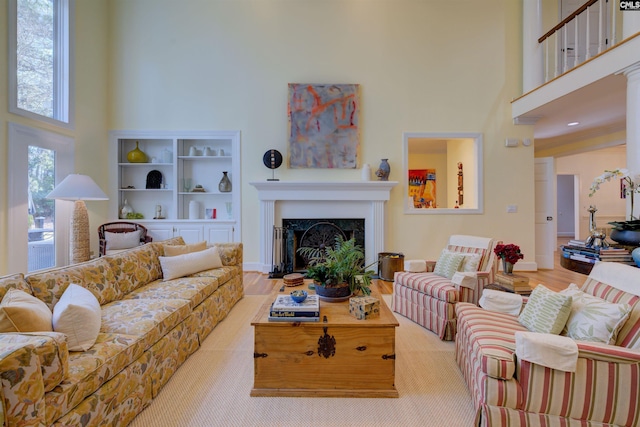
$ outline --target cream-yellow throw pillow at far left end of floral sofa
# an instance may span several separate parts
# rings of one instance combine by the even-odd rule
[[[51,310],[44,301],[9,289],[0,303],[0,332],[51,332]]]

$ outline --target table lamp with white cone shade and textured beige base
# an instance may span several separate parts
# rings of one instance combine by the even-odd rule
[[[71,174],[56,185],[47,199],[75,202],[69,228],[69,262],[77,264],[90,258],[89,213],[85,200],[109,200],[91,177]]]

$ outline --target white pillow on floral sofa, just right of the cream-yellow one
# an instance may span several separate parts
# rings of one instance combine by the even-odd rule
[[[53,330],[67,336],[69,351],[86,351],[100,333],[102,310],[90,290],[71,283],[53,307]]]

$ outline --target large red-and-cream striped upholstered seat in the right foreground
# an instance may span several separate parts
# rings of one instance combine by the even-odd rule
[[[575,342],[575,372],[519,360],[516,316],[457,305],[456,359],[477,426],[640,426],[640,269],[599,263],[582,291],[633,308],[615,345]]]

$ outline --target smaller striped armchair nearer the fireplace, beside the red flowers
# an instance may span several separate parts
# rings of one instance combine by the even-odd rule
[[[456,334],[455,305],[477,304],[482,289],[493,283],[497,268],[493,248],[496,241],[488,237],[452,235],[447,249],[452,252],[479,254],[477,271],[452,280],[433,273],[435,261],[427,261],[426,272],[396,272],[392,309],[430,331],[440,339],[451,341]]]

